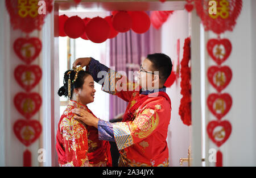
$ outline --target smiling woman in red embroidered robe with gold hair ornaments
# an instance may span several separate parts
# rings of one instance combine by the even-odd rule
[[[93,114],[87,104],[94,101],[92,75],[81,67],[64,74],[59,96],[69,97],[69,104],[60,117],[56,151],[60,166],[112,166],[110,144],[98,139],[98,130],[74,119],[72,109],[80,108]],[[94,114],[93,114],[94,115]]]

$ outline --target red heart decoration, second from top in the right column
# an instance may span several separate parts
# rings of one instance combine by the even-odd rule
[[[232,70],[228,66],[211,66],[208,68],[207,76],[210,84],[212,84],[218,92],[221,92],[229,85],[232,79]]]

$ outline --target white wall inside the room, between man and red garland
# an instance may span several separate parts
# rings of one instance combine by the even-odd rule
[[[169,16],[166,23],[163,24],[162,30],[162,52],[171,57],[174,64],[172,70],[177,68],[177,39],[180,39],[180,61],[183,57],[184,40],[189,36],[188,13],[185,10],[175,11]],[[187,158],[189,147],[189,127],[184,125],[180,119],[180,80],[179,77],[176,82],[167,88],[167,94],[171,98],[172,111],[171,122],[168,129],[168,147],[170,166],[180,166],[180,158]],[[187,166],[184,163],[183,166]]]

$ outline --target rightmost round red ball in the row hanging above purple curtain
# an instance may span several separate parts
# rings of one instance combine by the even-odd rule
[[[150,18],[144,11],[131,11],[129,15],[132,19],[131,30],[137,34],[143,34],[150,28]]]

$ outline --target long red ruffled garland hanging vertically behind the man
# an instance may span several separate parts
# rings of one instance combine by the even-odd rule
[[[180,63],[180,93],[183,97],[180,100],[179,115],[183,123],[187,126],[191,125],[191,68],[188,66],[189,60],[191,59],[190,42],[190,38],[185,39],[183,59]]]

